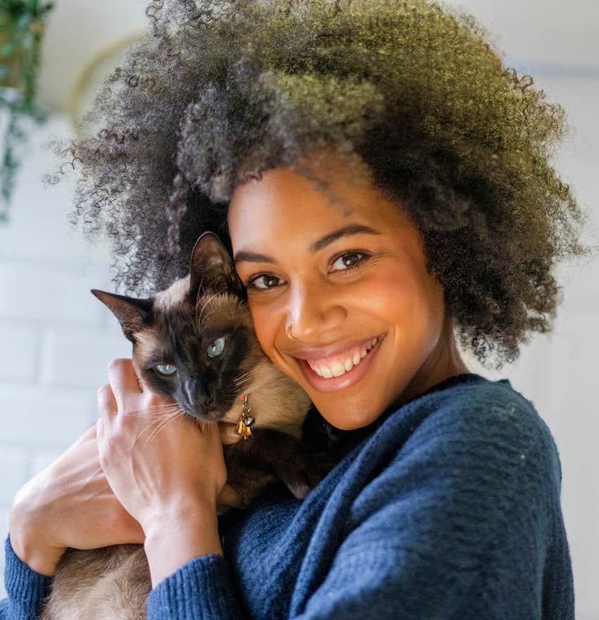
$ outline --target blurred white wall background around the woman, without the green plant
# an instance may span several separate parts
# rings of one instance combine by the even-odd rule
[[[583,240],[597,244],[599,2],[447,4],[481,20],[495,33],[507,66],[533,75],[548,99],[566,109],[575,132],[556,154],[555,166],[588,213]],[[94,423],[106,365],[130,356],[115,319],[89,293],[92,287],[113,290],[109,249],[85,242],[69,227],[72,187],[63,182],[44,189],[41,177],[56,167],[44,143],[73,131],[73,116],[85,109],[123,47],[144,30],[146,5],[146,0],[56,0],[45,20],[37,101],[47,120],[25,122],[28,140],[16,151],[21,165],[14,173],[8,221],[0,223],[2,540],[16,490]],[[0,50],[1,37],[0,30]],[[0,136],[10,122],[8,109],[0,107]],[[553,333],[538,335],[516,364],[499,373],[469,356],[467,363],[489,378],[509,378],[548,424],[562,461],[576,618],[599,620],[599,365],[593,361],[599,349],[599,264],[560,266],[558,273],[564,303]],[[0,571],[3,562],[4,557]]]

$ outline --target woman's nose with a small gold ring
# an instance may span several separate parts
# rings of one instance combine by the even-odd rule
[[[290,337],[309,342],[339,328],[347,311],[330,287],[302,285],[293,287],[289,297],[285,330]]]

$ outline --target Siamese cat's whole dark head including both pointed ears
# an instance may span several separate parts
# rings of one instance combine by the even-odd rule
[[[190,275],[149,299],[94,291],[133,342],[142,382],[198,419],[221,419],[264,360],[226,249],[204,235]]]

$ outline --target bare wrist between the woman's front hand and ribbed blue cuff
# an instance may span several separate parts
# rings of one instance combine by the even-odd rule
[[[169,507],[154,516],[144,531],[152,588],[196,557],[223,554],[216,502]]]

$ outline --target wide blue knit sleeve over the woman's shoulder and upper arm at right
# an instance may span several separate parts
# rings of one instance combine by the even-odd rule
[[[290,618],[573,620],[560,528],[557,449],[536,411],[445,409],[353,502]]]

